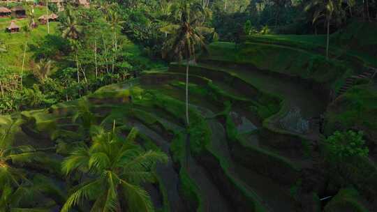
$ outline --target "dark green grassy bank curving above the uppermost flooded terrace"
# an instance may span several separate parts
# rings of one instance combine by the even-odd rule
[[[262,70],[334,85],[335,88],[339,88],[339,80],[348,70],[339,61],[326,61],[320,54],[265,43],[245,43],[236,48],[232,43],[217,42],[209,45],[209,54],[210,59],[249,64]]]

